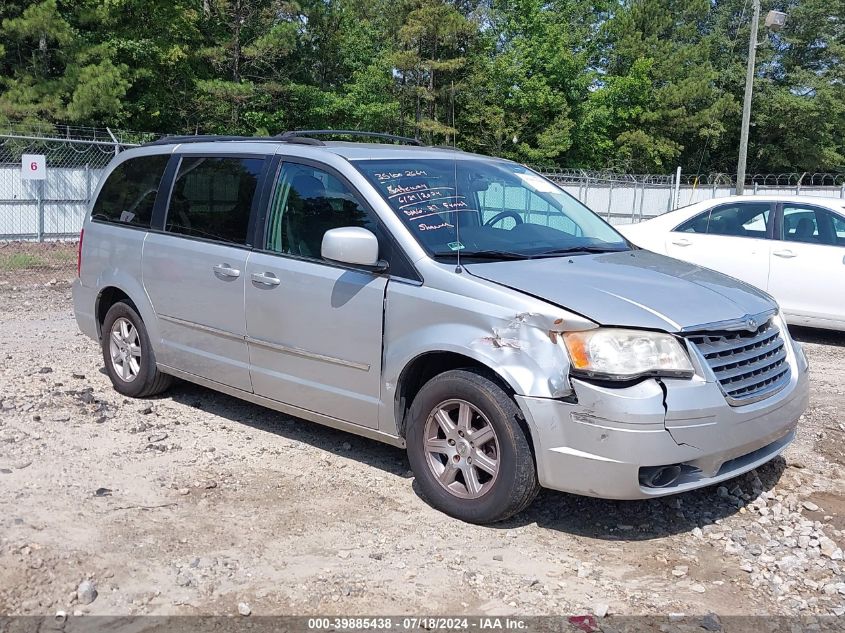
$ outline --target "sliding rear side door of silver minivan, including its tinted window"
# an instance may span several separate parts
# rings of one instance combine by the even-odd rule
[[[251,391],[244,280],[264,159],[186,155],[163,233],[144,242],[144,287],[159,319],[158,361]]]

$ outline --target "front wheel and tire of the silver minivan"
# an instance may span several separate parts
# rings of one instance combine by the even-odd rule
[[[432,378],[408,415],[408,459],[432,506],[485,524],[507,519],[534,500],[540,486],[524,418],[486,375],[456,369]]]

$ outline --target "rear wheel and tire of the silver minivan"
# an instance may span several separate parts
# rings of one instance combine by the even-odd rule
[[[172,384],[173,377],[156,367],[147,328],[133,306],[120,301],[109,308],[100,339],[106,372],[118,393],[146,398]]]

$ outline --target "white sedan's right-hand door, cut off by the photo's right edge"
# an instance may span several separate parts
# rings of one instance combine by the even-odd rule
[[[845,217],[790,202],[783,204],[779,228],[779,239],[772,243],[769,293],[791,322],[845,323]]]

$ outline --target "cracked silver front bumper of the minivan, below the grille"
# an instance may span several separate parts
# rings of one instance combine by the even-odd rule
[[[627,388],[572,380],[577,404],[517,396],[534,441],[540,484],[606,499],[645,499],[709,486],[771,460],[795,437],[807,408],[803,351],[790,354],[792,375],[777,394],[731,407],[719,385],[646,380]],[[640,483],[640,469],[682,465],[662,488]]]

